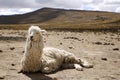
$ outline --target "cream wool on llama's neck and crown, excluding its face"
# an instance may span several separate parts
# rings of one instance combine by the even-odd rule
[[[25,72],[35,72],[38,71],[41,67],[40,58],[43,52],[43,39],[40,33],[40,40],[31,41],[30,33],[41,31],[37,26],[31,26],[28,30],[28,37],[25,45],[25,53],[22,59],[22,70]]]

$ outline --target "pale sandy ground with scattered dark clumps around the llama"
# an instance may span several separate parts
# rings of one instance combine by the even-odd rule
[[[53,74],[18,73],[27,31],[0,30],[0,80],[120,80],[120,33],[48,31],[45,46],[74,53],[94,64]]]

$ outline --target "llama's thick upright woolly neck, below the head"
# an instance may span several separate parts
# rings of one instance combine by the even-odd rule
[[[23,69],[27,71],[38,71],[41,68],[41,57],[44,44],[42,41],[27,41],[25,47],[25,58]]]

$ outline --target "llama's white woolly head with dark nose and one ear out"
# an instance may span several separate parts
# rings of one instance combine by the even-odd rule
[[[40,41],[42,40],[42,33],[45,30],[39,28],[39,26],[31,26],[28,30],[28,37],[30,41]]]

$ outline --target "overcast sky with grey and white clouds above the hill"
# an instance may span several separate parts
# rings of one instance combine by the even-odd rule
[[[120,13],[120,0],[0,0],[0,15],[23,14],[43,7]]]

